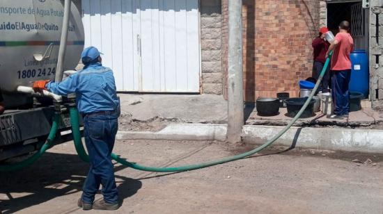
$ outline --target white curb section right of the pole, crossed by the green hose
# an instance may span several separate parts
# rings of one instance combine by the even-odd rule
[[[260,145],[272,138],[283,126],[244,126],[244,142]],[[329,149],[361,153],[383,153],[383,130],[291,127],[274,145],[306,149]]]

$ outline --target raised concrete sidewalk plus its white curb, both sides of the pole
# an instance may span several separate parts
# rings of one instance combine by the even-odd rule
[[[227,103],[221,96],[120,94],[120,99],[120,140],[226,140]],[[291,120],[286,108],[277,116],[259,117],[249,106],[245,118],[242,138],[253,145],[267,142]],[[274,145],[383,153],[382,121],[382,114],[370,108],[350,113],[348,120],[316,113],[298,120]]]

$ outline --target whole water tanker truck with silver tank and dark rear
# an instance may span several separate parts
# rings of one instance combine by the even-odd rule
[[[67,99],[49,92],[36,94],[31,86],[33,81],[57,80],[63,71],[69,75],[79,63],[84,49],[80,11],[75,3],[61,0],[1,0],[0,90],[6,111],[0,115],[0,161],[39,149],[55,110],[61,111],[59,133],[70,128]],[[64,37],[63,25],[68,29]]]

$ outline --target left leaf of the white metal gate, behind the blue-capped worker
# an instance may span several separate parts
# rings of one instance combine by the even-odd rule
[[[85,47],[104,55],[104,66],[114,70],[117,90],[139,90],[139,0],[82,0]]]

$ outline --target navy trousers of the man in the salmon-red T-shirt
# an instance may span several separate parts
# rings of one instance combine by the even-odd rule
[[[351,69],[342,71],[332,71],[332,87],[331,95],[334,102],[336,115],[348,115],[350,112],[350,91],[348,85],[350,83]]]

